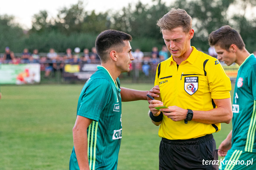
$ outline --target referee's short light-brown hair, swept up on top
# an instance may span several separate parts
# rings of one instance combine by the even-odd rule
[[[157,21],[157,26],[160,27],[160,32],[182,27],[183,32],[188,33],[192,28],[192,18],[184,9],[172,8]]]

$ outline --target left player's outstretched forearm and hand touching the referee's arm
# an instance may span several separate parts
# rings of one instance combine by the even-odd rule
[[[147,94],[150,94],[153,97],[159,97],[159,95],[155,93],[160,93],[158,86],[154,86],[150,91],[141,91],[121,87],[120,92],[122,101],[148,100]]]

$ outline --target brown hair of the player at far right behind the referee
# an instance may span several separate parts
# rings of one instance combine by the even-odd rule
[[[229,51],[229,47],[232,44],[235,44],[240,50],[245,47],[241,35],[229,25],[225,25],[215,31],[212,31],[209,35],[208,41],[210,46],[218,45],[220,48],[227,51]]]

